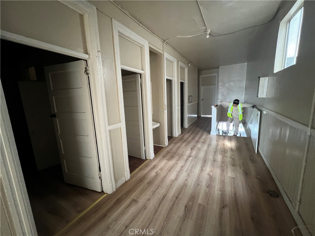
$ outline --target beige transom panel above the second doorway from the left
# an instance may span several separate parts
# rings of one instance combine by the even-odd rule
[[[141,47],[121,36],[118,41],[120,64],[142,70]]]

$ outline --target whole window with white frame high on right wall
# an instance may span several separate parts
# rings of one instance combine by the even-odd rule
[[[274,72],[295,65],[299,50],[303,1],[297,1],[280,22]]]

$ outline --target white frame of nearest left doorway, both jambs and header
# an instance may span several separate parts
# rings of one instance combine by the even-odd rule
[[[100,54],[100,40],[97,24],[96,7],[87,1],[60,1],[67,7],[83,15],[83,24],[86,37],[88,54],[79,53],[67,48],[62,48],[46,42],[41,42],[18,34],[1,30],[1,39],[18,42],[24,45],[41,48],[64,55],[84,59],[88,61],[91,87],[91,99],[93,103],[96,138],[100,168],[102,171],[102,187],[106,193],[112,193],[116,189],[112,153],[108,132],[108,120],[106,109],[106,97],[103,76],[103,67]],[[1,98],[4,101],[1,84]],[[8,209],[12,216],[12,224],[17,234],[37,235],[31,206],[26,191],[24,177],[21,171],[12,126],[9,122],[9,113],[6,103],[1,104],[1,176],[3,182],[3,194],[10,204]],[[4,125],[6,124],[6,125]]]

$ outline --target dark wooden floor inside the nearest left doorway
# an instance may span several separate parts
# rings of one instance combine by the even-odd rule
[[[61,166],[25,176],[38,235],[54,235],[104,195],[63,181]]]

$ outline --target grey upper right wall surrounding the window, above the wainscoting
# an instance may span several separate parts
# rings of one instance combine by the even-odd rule
[[[299,53],[296,64],[273,73],[279,22],[295,1],[284,1],[277,17],[255,36],[248,55],[245,101],[260,105],[303,125],[311,116],[315,88],[314,21],[315,2],[304,2]],[[267,98],[257,98],[258,76],[269,76]],[[294,108],[294,112],[292,109]],[[315,128],[313,126],[313,128]]]

